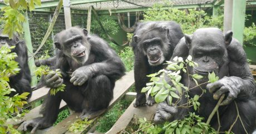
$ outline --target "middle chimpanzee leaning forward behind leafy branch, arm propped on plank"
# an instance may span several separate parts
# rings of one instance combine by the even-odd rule
[[[173,50],[183,37],[180,25],[173,21],[139,23],[132,39],[135,54],[134,77],[136,87],[135,107],[154,103],[151,96],[141,93],[149,78],[146,75],[164,68],[164,61],[170,60]]]

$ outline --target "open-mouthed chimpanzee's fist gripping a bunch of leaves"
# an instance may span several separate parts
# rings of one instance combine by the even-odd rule
[[[56,89],[63,84],[63,79],[58,76],[57,73],[47,74],[46,76],[46,86],[51,87],[52,89]]]

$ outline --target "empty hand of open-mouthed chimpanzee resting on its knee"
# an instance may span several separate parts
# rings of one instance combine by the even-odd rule
[[[82,66],[72,73],[70,82],[75,86],[81,86],[92,76],[92,72],[91,66]]]

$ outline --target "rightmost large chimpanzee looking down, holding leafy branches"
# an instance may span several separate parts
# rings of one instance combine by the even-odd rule
[[[228,131],[239,115],[242,118],[243,125],[248,133],[252,133],[255,127],[255,82],[252,73],[250,73],[247,63],[247,56],[242,45],[237,39],[232,38],[232,32],[228,31],[225,35],[218,28],[200,28],[193,35],[186,35],[174,49],[175,56],[182,56],[184,59],[191,55],[193,61],[199,66],[188,66],[189,74],[199,74],[204,76],[199,84],[208,81],[208,73],[214,72],[219,76],[215,83],[203,84],[200,87],[206,89],[200,99],[198,111],[191,108],[176,108],[162,102],[157,106],[155,122],[164,120],[181,119],[188,115],[188,112],[195,112],[207,120],[211,111],[213,111],[221,95],[225,95],[221,102],[219,111],[220,132]],[[196,86],[191,76],[183,74],[181,83],[189,87],[189,97],[201,95],[203,91]],[[190,79],[190,84],[189,84]],[[196,86],[196,87],[195,87]],[[178,104],[183,105],[186,101],[185,96],[181,96]],[[210,125],[217,130],[218,118],[212,118]],[[240,120],[235,122],[232,127],[234,133],[245,133]]]

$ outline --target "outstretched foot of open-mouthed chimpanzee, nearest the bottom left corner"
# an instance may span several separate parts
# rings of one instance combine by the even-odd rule
[[[28,127],[33,127],[31,134],[35,133],[37,129],[52,126],[52,123],[48,123],[43,119],[43,117],[34,118],[33,120],[25,121],[22,124],[24,131],[27,131]]]

